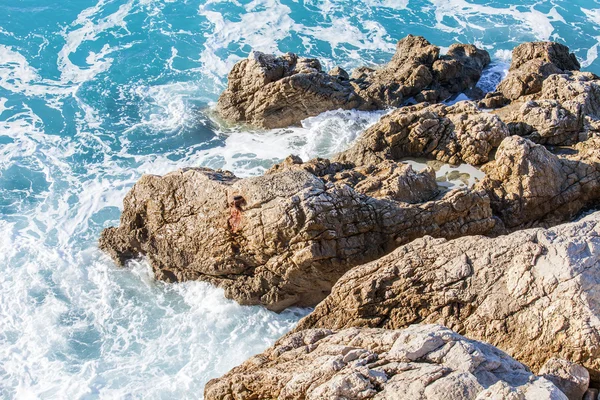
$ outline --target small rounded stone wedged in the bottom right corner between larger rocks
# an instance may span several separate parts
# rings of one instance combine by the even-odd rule
[[[540,370],[540,375],[554,383],[569,400],[581,400],[590,384],[590,374],[581,365],[559,358],[551,358]]]

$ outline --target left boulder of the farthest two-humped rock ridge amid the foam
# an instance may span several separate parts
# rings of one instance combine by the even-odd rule
[[[324,111],[361,104],[352,86],[323,72],[318,60],[255,51],[229,73],[217,111],[228,121],[279,128]]]

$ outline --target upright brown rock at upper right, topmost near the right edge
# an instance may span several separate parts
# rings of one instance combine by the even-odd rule
[[[513,50],[507,77],[498,86],[507,99],[537,93],[544,79],[553,74],[578,71],[579,62],[569,48],[555,42],[529,42]]]

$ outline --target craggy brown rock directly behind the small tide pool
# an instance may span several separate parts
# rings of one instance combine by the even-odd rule
[[[472,102],[402,107],[367,129],[334,161],[371,165],[382,160],[427,157],[449,164],[480,165],[509,134],[496,115]]]

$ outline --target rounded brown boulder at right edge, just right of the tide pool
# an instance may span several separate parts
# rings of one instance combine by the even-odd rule
[[[476,187],[488,193],[494,214],[510,230],[568,221],[600,205],[600,139],[558,156],[512,136],[482,169],[486,176]]]

